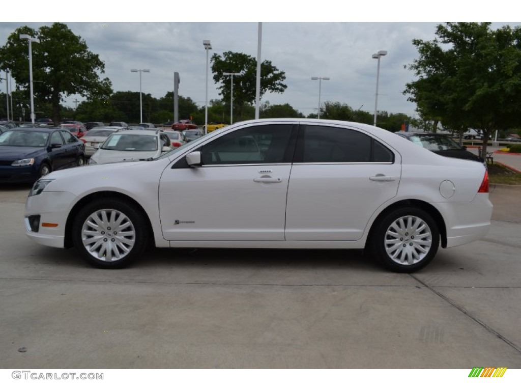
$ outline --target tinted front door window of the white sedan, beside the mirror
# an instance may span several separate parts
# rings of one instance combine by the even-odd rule
[[[286,163],[291,125],[261,125],[243,128],[203,146],[202,163]]]

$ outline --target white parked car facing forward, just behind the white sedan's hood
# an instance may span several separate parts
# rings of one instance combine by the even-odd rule
[[[89,164],[153,159],[172,150],[165,132],[125,130],[112,133],[90,158]]]

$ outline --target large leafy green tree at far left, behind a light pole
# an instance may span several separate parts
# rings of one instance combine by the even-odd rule
[[[9,68],[24,89],[29,90],[29,52],[28,42],[20,39],[20,34],[40,40],[32,45],[34,95],[51,104],[55,123],[61,120],[60,103],[64,97],[71,94],[102,97],[111,93],[110,80],[100,79],[105,64],[64,23],[42,26],[38,31],[19,27],[0,48],[0,69]]]

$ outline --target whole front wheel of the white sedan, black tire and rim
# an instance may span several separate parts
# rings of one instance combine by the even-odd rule
[[[133,205],[102,198],[86,204],[76,215],[72,242],[91,265],[121,268],[143,254],[149,238],[147,227],[146,218]]]

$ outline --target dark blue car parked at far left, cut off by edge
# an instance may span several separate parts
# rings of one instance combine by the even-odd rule
[[[17,128],[0,135],[0,183],[34,182],[85,164],[85,146],[63,128]]]

